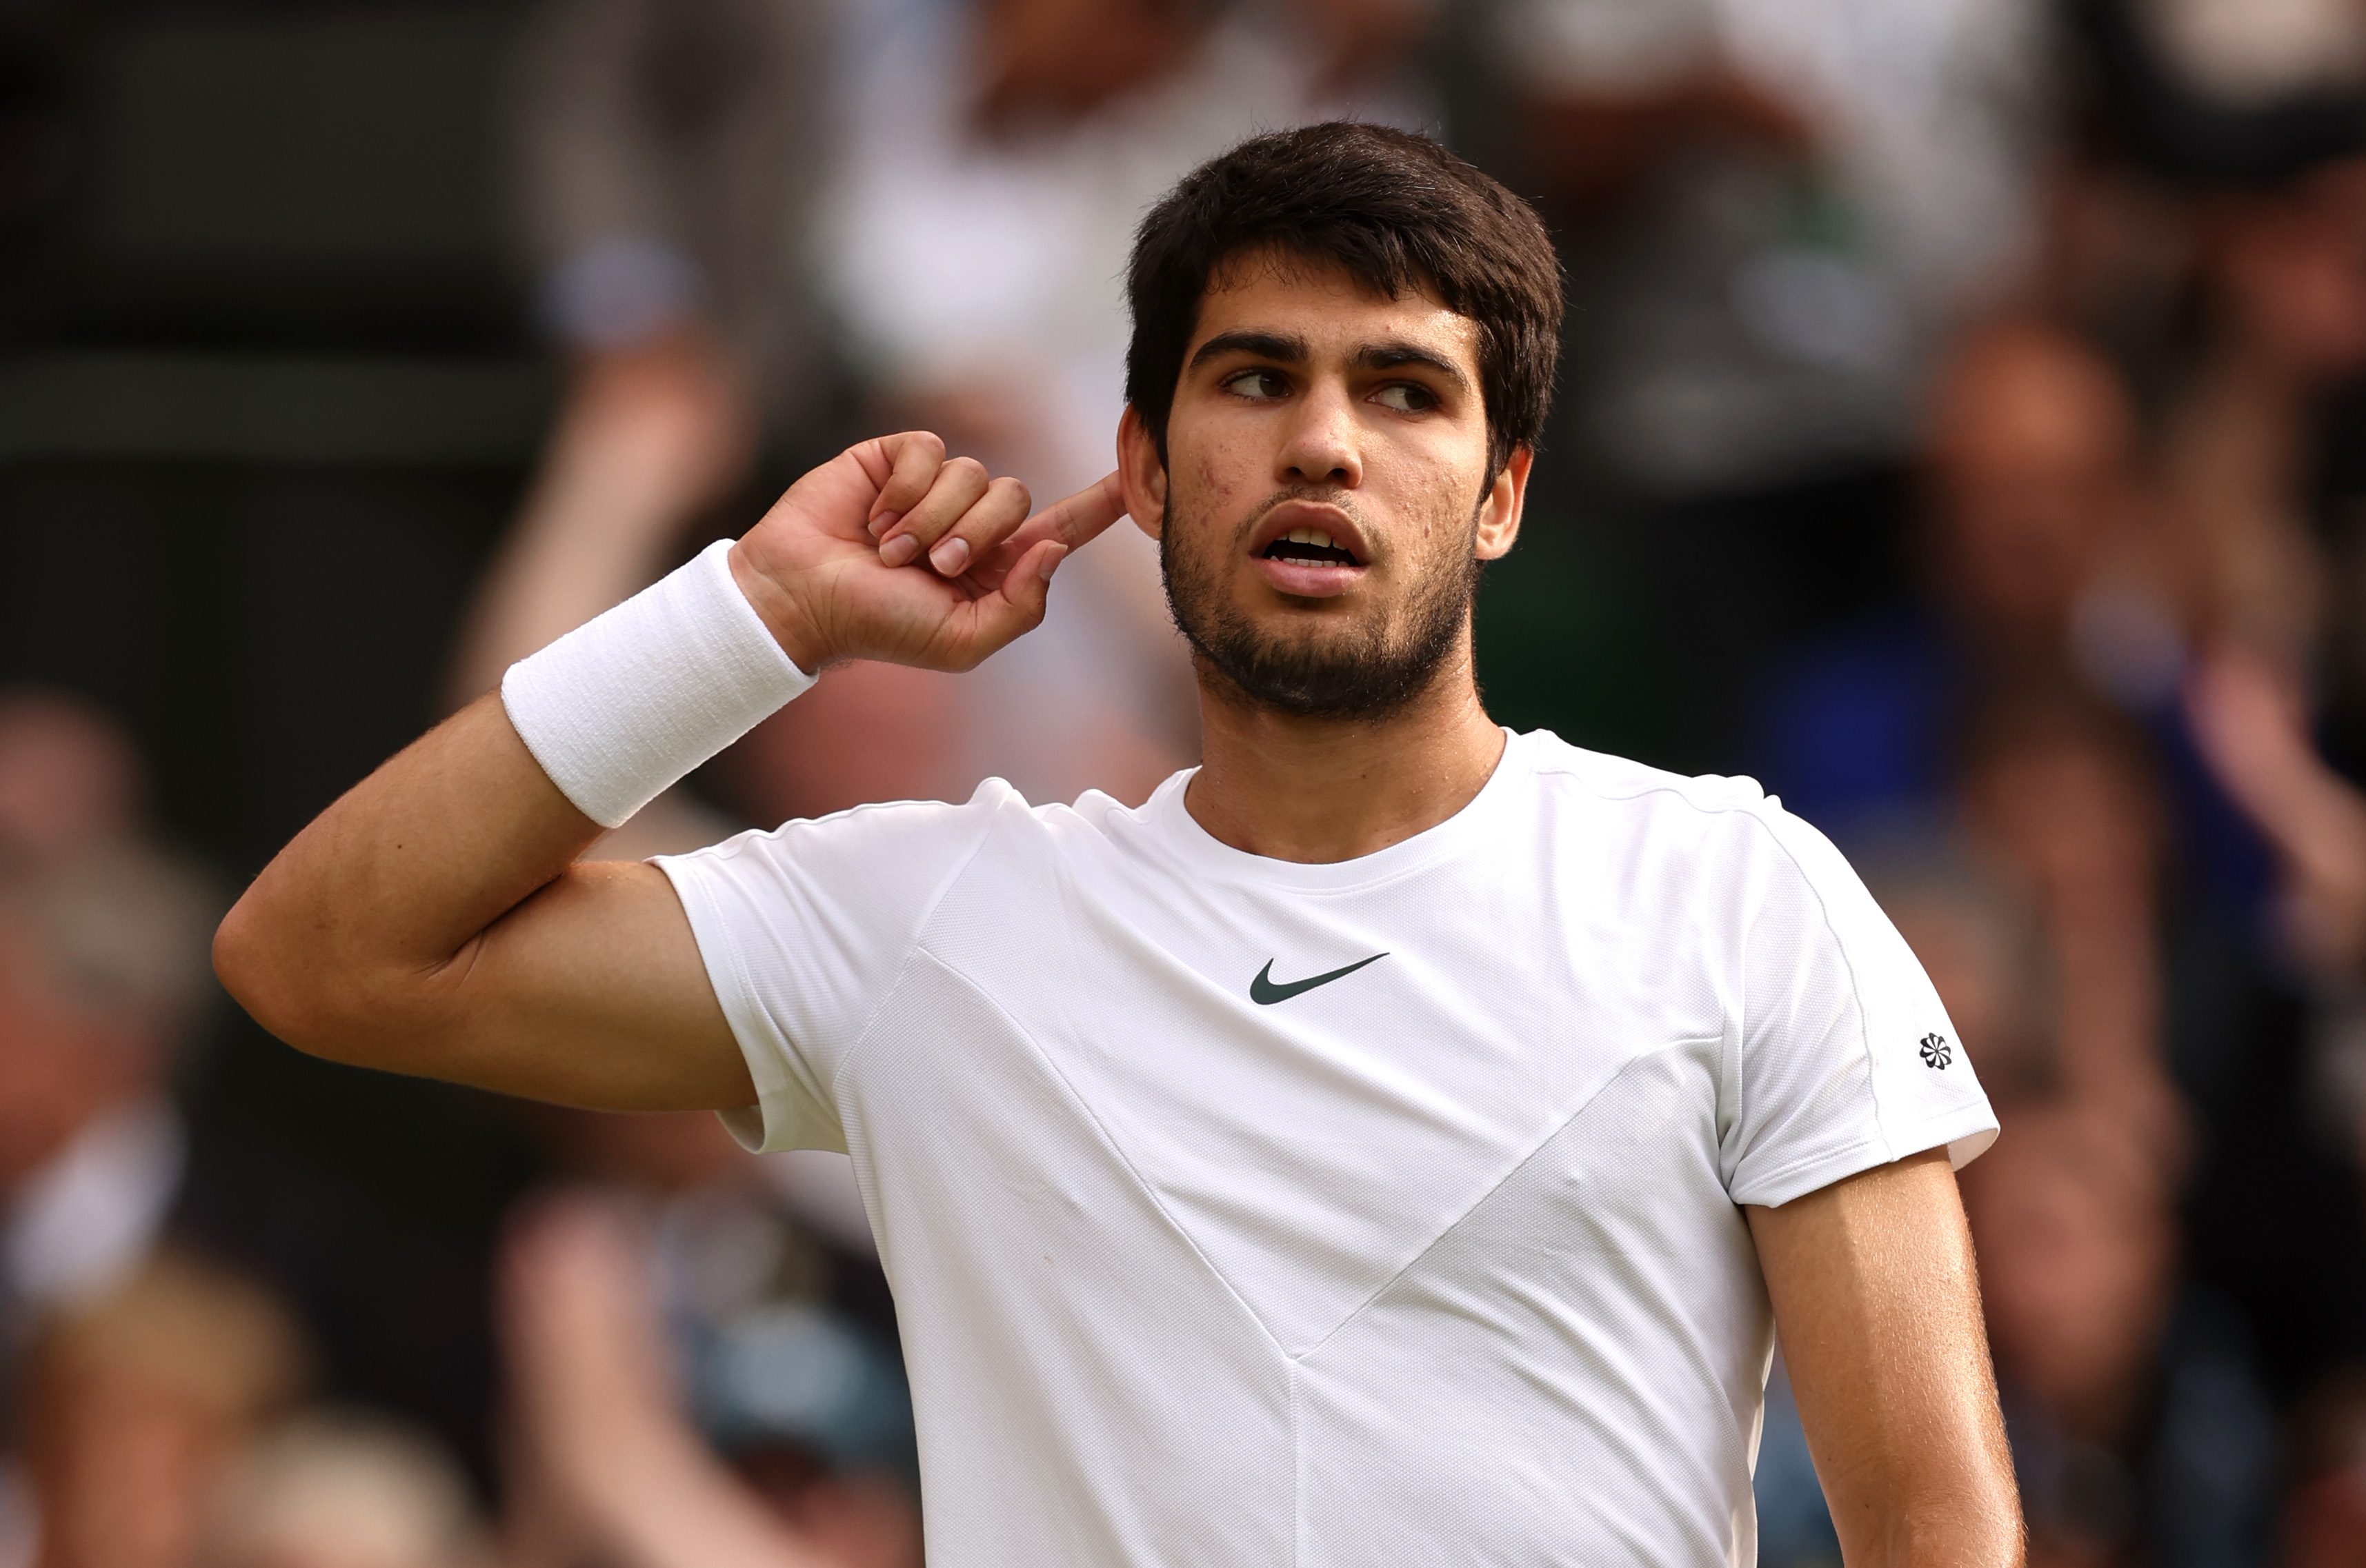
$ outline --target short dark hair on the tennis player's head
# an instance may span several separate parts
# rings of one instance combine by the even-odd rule
[[[1562,357],[1562,263],[1545,225],[1424,135],[1330,121],[1209,158],[1136,229],[1126,402],[1159,461],[1209,284],[1268,246],[1337,263],[1386,296],[1427,289],[1476,322],[1488,473],[1502,473],[1517,447],[1536,447]]]

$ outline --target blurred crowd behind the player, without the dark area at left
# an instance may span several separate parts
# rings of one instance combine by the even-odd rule
[[[1334,116],[1564,248],[1498,710],[1824,828],[1999,1107],[1964,1197],[2032,1561],[2366,1563],[2359,0],[544,0],[565,395],[445,702],[854,435],[1091,482],[1133,220]],[[1155,551],[1079,561],[982,672],[838,669],[599,854],[1145,797],[1190,672]],[[707,1116],[502,1109],[490,1431],[355,1398],[189,1159],[227,894],[144,790],[104,712],[0,693],[0,1568],[916,1563],[852,1173]],[[1767,1563],[1838,1563],[1779,1355],[1758,1502]]]

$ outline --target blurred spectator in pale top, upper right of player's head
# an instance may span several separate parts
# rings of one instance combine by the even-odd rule
[[[1630,196],[1573,393],[1649,492],[1895,452],[1931,348],[2035,253],[2037,5],[1507,0],[1495,33],[1536,184]]]

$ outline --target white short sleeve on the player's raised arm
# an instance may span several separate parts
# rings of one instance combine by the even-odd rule
[[[835,1081],[918,944],[927,913],[1024,802],[998,778],[963,806],[856,806],[658,856],[755,1078],[724,1112],[750,1149],[838,1149]]]

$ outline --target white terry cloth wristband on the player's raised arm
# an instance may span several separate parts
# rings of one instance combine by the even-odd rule
[[[511,665],[502,707],[558,792],[620,828],[812,683],[731,579],[731,542],[717,539]]]

